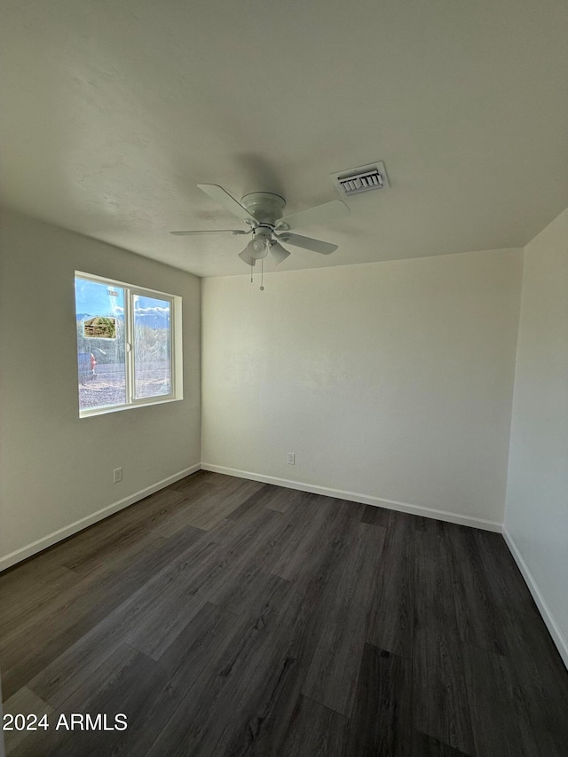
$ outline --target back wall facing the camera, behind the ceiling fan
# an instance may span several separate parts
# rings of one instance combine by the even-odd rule
[[[522,259],[203,280],[203,463],[499,530]]]

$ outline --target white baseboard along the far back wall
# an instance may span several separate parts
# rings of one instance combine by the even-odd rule
[[[222,465],[210,465],[208,462],[202,462],[201,469],[210,470],[214,473],[224,473],[226,476],[250,478],[253,481],[261,481],[263,484],[273,484],[276,486],[285,486],[288,489],[298,489],[300,492],[323,494],[326,497],[335,497],[338,500],[361,502],[364,505],[374,505],[377,508],[398,510],[398,512],[409,513],[414,516],[431,517],[436,518],[436,520],[444,520],[447,523],[469,525],[473,528],[482,528],[485,531],[501,533],[501,523],[492,520],[483,520],[482,518],[473,516],[462,516],[458,513],[446,512],[446,510],[424,508],[422,505],[409,505],[406,502],[397,502],[394,500],[382,500],[379,497],[372,497],[368,494],[343,492],[342,489],[328,489],[327,486],[314,486],[312,484],[304,484],[301,481],[291,481],[288,480],[288,478],[264,476],[263,474],[253,473],[249,470],[237,470],[233,468],[225,468]]]

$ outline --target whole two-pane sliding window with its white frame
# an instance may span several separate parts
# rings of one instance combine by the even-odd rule
[[[181,297],[75,272],[79,415],[181,399]]]

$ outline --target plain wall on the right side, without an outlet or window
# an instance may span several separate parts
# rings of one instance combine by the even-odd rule
[[[568,666],[568,209],[525,248],[505,533]]]

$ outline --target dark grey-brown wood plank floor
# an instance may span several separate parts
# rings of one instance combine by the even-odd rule
[[[50,724],[14,757],[568,754],[495,533],[200,472],[5,572],[0,614],[4,712]]]

